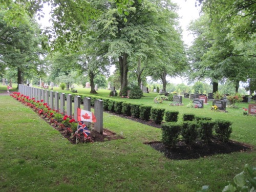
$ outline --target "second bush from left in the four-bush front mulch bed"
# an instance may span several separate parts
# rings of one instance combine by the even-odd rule
[[[186,144],[192,144],[196,141],[198,124],[195,121],[184,121],[182,124],[181,135]]]

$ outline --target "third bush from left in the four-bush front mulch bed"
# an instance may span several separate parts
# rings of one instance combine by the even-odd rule
[[[206,143],[210,142],[212,138],[212,130],[215,123],[209,120],[199,121],[199,137]]]

